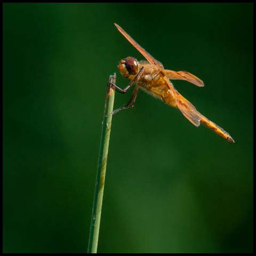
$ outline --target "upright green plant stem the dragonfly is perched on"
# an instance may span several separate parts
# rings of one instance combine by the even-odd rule
[[[116,74],[109,76],[109,82],[116,83]],[[108,87],[106,95],[105,109],[102,121],[101,139],[100,139],[100,152],[97,168],[97,177],[94,190],[93,206],[92,206],[92,220],[89,234],[88,253],[97,253],[99,230],[100,230],[100,218],[103,191],[106,176],[107,158],[108,158],[108,145],[111,131],[111,121],[113,107],[115,99],[115,89],[112,86]]]

